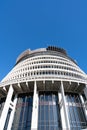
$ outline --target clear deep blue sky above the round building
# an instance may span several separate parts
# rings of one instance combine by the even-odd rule
[[[87,73],[87,0],[0,0],[0,80],[22,51],[48,45]]]

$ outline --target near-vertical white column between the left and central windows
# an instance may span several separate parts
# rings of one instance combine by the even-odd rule
[[[38,130],[38,93],[36,81],[34,82],[31,130]]]

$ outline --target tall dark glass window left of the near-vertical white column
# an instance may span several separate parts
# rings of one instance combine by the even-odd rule
[[[11,130],[31,130],[33,96],[19,95]]]

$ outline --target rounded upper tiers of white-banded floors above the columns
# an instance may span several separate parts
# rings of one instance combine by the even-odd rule
[[[87,84],[87,75],[62,48],[49,46],[20,54],[0,86],[26,81],[70,81]]]

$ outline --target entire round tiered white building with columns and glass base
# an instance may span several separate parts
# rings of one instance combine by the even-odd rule
[[[0,82],[0,130],[87,128],[87,75],[67,52],[26,50]]]

